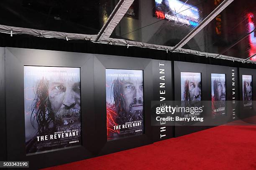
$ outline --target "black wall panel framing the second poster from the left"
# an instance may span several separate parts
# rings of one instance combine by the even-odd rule
[[[144,134],[107,141],[106,74],[105,69],[143,70],[144,76]],[[152,63],[150,59],[95,55],[95,145],[98,155],[105,155],[153,143],[151,128]]]

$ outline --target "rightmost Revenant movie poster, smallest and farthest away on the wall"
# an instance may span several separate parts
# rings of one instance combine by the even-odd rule
[[[252,76],[242,75],[243,81],[243,106],[252,106]]]

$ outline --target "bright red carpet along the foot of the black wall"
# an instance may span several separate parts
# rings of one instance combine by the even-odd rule
[[[256,170],[256,126],[219,126],[44,170]]]

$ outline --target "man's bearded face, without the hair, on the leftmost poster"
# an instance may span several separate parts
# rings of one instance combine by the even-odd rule
[[[80,83],[75,80],[51,79],[49,100],[59,126],[70,125],[80,117]]]

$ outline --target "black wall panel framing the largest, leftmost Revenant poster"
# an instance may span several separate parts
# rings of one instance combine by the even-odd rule
[[[9,161],[29,161],[31,169],[50,167],[92,157],[90,138],[93,92],[93,56],[83,53],[6,48],[6,119]],[[70,149],[26,156],[23,67],[79,67],[81,73],[82,145]]]

